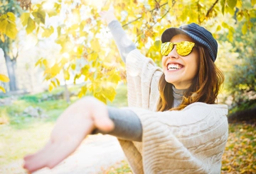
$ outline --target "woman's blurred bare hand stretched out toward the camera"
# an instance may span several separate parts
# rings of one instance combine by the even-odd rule
[[[107,106],[92,97],[78,100],[60,115],[46,146],[24,158],[23,168],[28,172],[53,168],[73,153],[95,127],[104,132],[114,129]]]

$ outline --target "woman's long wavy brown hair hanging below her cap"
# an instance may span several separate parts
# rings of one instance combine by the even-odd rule
[[[182,110],[187,105],[195,102],[214,104],[224,81],[223,72],[215,66],[210,55],[203,47],[198,46],[199,62],[198,73],[193,78],[191,86],[184,92],[181,105],[172,108],[174,104],[172,84],[166,82],[164,74],[159,81],[160,100],[158,111]]]

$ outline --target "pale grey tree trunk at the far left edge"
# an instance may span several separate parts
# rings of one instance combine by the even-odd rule
[[[10,91],[16,91],[18,90],[17,84],[16,84],[16,73],[15,73],[16,61],[11,60],[11,58],[7,54],[4,54],[4,58],[6,60],[6,67],[7,67],[8,76],[10,79],[9,81]]]

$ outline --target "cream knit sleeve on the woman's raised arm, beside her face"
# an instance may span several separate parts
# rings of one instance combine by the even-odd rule
[[[126,68],[129,107],[156,110],[161,68],[137,49],[128,54]]]

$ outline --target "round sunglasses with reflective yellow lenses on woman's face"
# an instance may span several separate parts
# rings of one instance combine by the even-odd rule
[[[181,56],[187,56],[193,50],[195,46],[194,42],[182,41],[182,42],[164,42],[161,44],[161,54],[167,56],[171,50],[176,46],[176,51]]]

